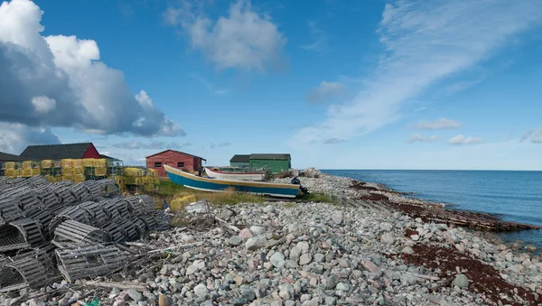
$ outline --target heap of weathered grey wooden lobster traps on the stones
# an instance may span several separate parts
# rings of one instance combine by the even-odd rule
[[[166,229],[148,196],[123,198],[113,180],[0,178],[0,292],[122,269],[126,241]]]

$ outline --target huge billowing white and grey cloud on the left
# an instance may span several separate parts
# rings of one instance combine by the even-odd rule
[[[184,134],[145,91],[134,95],[122,71],[99,60],[97,42],[42,36],[42,14],[30,0],[0,5],[0,121],[97,134]]]

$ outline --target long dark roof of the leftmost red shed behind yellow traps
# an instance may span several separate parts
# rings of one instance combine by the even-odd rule
[[[29,145],[21,153],[23,158],[36,160],[61,160],[82,158],[92,143]]]

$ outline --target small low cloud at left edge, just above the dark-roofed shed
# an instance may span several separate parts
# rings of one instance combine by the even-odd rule
[[[27,144],[61,144],[50,128],[0,122],[0,152],[20,154]]]

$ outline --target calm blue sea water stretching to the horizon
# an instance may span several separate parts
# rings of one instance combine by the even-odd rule
[[[453,209],[489,212],[504,220],[542,226],[542,172],[325,170],[333,175],[373,181]],[[501,235],[542,247],[542,230]]]

